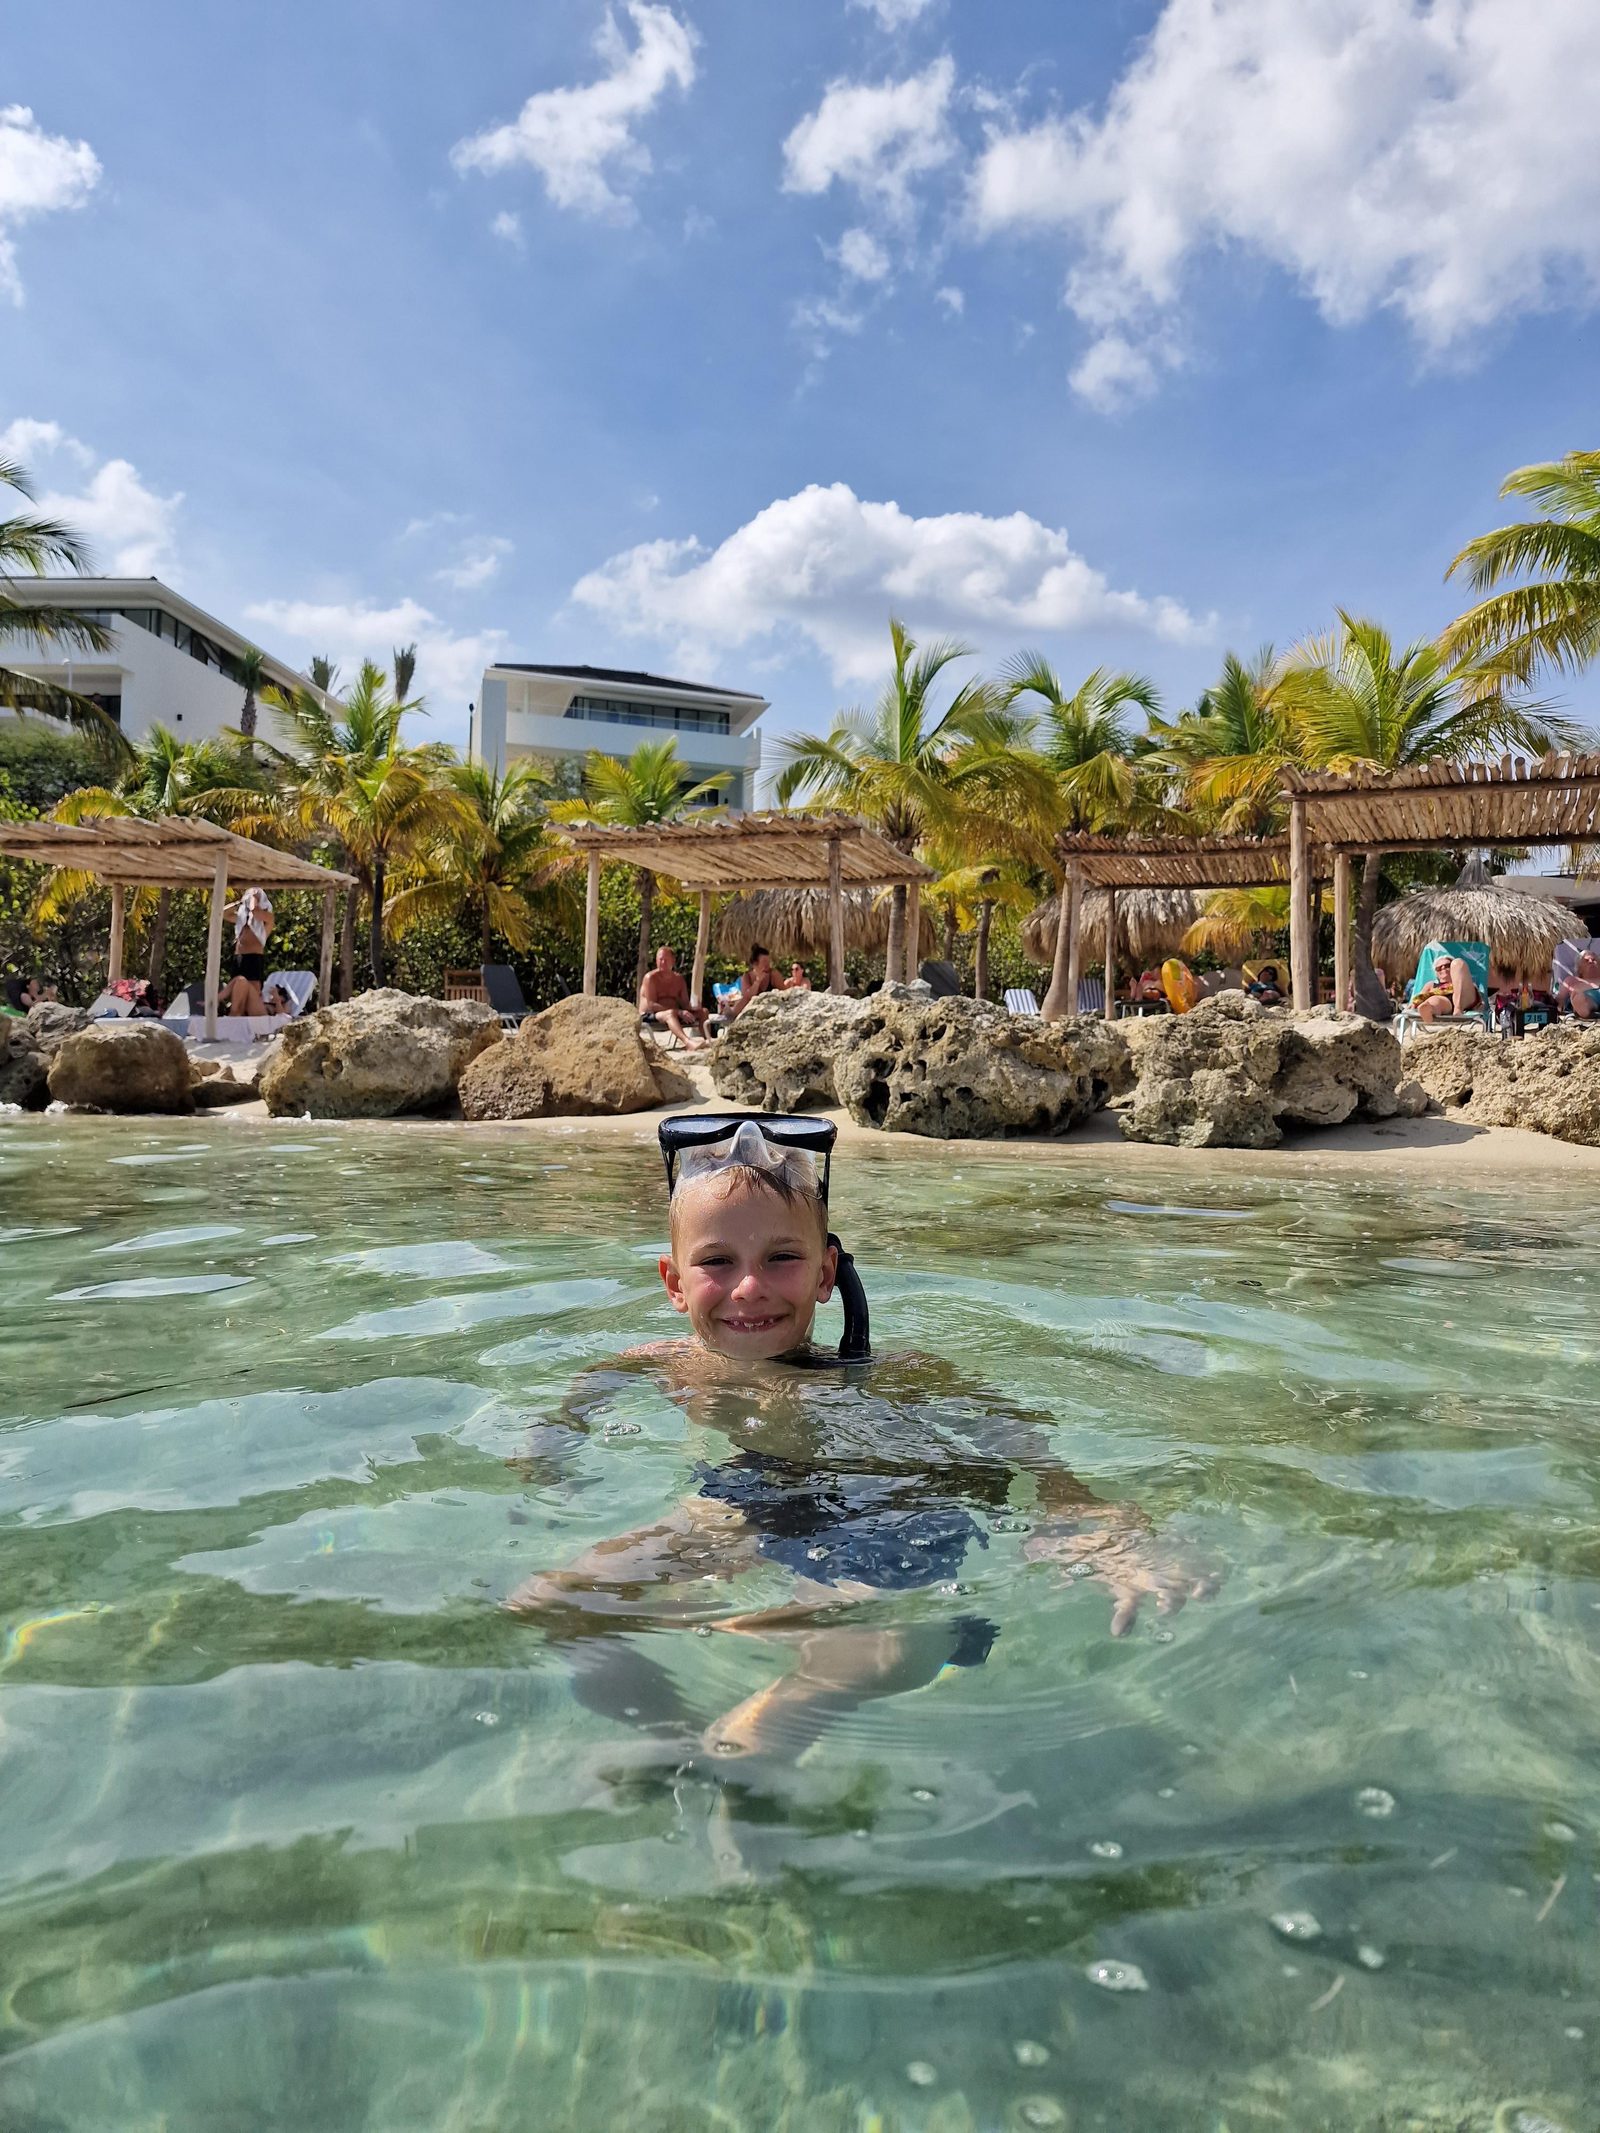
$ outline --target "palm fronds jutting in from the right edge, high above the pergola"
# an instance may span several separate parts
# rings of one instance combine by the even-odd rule
[[[1540,665],[1577,672],[1600,653],[1600,452],[1517,467],[1500,495],[1532,497],[1540,516],[1470,540],[1444,576],[1466,572],[1476,591],[1534,578],[1451,623],[1444,657],[1476,659],[1500,680],[1532,680]]]

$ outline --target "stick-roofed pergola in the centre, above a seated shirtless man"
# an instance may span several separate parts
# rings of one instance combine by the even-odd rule
[[[599,868],[606,862],[646,866],[653,875],[700,889],[689,998],[700,1005],[710,947],[710,898],[723,889],[817,889],[828,898],[828,990],[845,990],[845,889],[905,887],[907,936],[922,939],[922,885],[934,870],[855,815],[734,815],[723,821],[659,823],[612,830],[574,823],[567,843],[589,857],[582,926],[582,990],[599,977]],[[890,973],[892,977],[902,973]]]

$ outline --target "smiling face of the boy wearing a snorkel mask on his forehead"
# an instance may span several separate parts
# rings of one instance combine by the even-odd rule
[[[838,1271],[809,1207],[706,1180],[681,1190],[672,1226],[661,1280],[706,1348],[762,1363],[806,1342]]]

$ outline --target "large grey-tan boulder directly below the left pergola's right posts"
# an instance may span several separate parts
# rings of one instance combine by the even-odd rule
[[[290,1022],[256,1077],[273,1118],[397,1118],[452,1101],[469,1060],[499,1041],[480,1000],[363,992]]]

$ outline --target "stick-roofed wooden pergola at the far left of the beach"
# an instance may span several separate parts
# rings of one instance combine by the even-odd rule
[[[205,1035],[218,1032],[218,988],[222,985],[222,907],[228,883],[239,889],[322,889],[322,968],[320,998],[326,1003],[333,983],[333,921],[339,889],[354,889],[356,877],[341,875],[292,851],[275,851],[250,836],[218,830],[215,823],[179,815],[158,815],[141,821],[134,815],[107,815],[94,823],[6,821],[0,823],[0,851],[32,866],[66,868],[92,875],[111,889],[111,953],[107,983],[122,977],[122,930],[128,889],[209,889],[211,924],[205,936]]]

